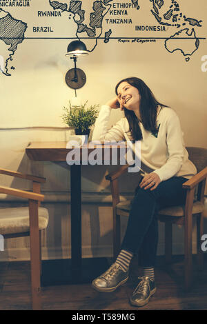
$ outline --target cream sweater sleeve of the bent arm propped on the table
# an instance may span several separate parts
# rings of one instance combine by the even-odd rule
[[[95,128],[92,133],[92,141],[123,141],[124,130],[121,127],[121,121],[118,121],[108,130],[108,121],[112,108],[108,105],[102,105],[99,112]]]

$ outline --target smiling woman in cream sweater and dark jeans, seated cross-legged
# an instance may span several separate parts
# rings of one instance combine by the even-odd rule
[[[92,141],[141,141],[141,175],[130,207],[121,251],[115,263],[92,282],[100,292],[112,292],[128,280],[132,257],[139,253],[144,275],[130,297],[142,306],[155,293],[155,259],[158,241],[156,214],[159,209],[184,203],[182,184],[195,175],[188,159],[179,119],[174,110],[159,103],[146,83],[136,77],[121,80],[115,99],[101,107]],[[108,130],[112,109],[124,110],[125,117]]]

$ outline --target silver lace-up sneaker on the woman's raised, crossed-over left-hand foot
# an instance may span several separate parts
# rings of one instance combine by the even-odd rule
[[[124,272],[118,263],[113,263],[106,272],[92,281],[92,287],[98,292],[114,292],[127,280],[128,271]]]

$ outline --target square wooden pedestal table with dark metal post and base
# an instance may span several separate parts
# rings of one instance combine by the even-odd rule
[[[89,156],[94,148],[90,148],[90,144],[83,144],[81,148],[67,148],[66,145],[67,142],[34,142],[26,148],[26,154],[32,161],[51,162],[66,162],[68,152],[80,150],[80,164],[70,165],[71,259],[43,261],[43,274],[46,273],[46,276],[43,275],[45,279],[43,279],[42,285],[86,283],[108,268],[106,259],[82,259],[81,255],[81,165],[86,165],[87,161],[84,159],[86,160],[86,156]],[[104,156],[103,145],[96,145],[96,148],[100,148],[102,156]],[[117,150],[117,145],[109,147],[109,163],[112,161],[113,149]],[[51,271],[52,267],[53,271]]]

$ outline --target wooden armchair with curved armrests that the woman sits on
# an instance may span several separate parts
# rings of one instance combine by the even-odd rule
[[[186,203],[182,206],[168,207],[159,210],[158,219],[165,223],[165,255],[166,261],[172,259],[172,223],[184,225],[184,277],[185,288],[189,290],[192,284],[192,222],[193,216],[197,219],[197,260],[199,268],[203,266],[203,253],[201,251],[201,236],[204,231],[204,190],[207,176],[207,150],[204,148],[187,148],[189,159],[197,167],[197,174],[186,180],[183,188],[186,190]],[[120,216],[128,216],[130,201],[120,202],[118,179],[127,172],[129,165],[123,165],[115,172],[106,176],[110,181],[113,210],[113,254],[116,258],[120,249]],[[195,189],[197,194],[195,198]]]

